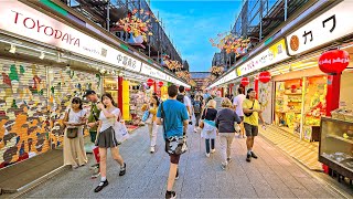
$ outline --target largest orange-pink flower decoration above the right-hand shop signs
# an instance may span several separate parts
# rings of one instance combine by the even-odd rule
[[[218,48],[221,51],[225,50],[227,54],[235,53],[236,56],[245,54],[250,39],[245,39],[243,36],[236,36],[231,32],[218,33],[217,38],[210,39],[212,46]]]

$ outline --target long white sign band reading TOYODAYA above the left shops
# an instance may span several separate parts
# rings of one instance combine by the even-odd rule
[[[0,7],[0,30],[140,72],[141,62],[17,0]]]

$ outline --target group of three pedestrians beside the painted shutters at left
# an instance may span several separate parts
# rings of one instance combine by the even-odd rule
[[[126,174],[126,164],[119,153],[119,142],[116,128],[117,123],[121,119],[120,109],[116,107],[115,101],[110,94],[98,95],[94,91],[87,91],[85,96],[92,102],[89,114],[83,108],[83,101],[79,97],[72,100],[71,107],[65,111],[63,123],[64,132],[64,165],[72,166],[76,169],[85,166],[88,161],[84,147],[84,127],[89,129],[90,142],[99,150],[99,172],[100,181],[95,188],[99,192],[108,185],[107,180],[107,150],[110,149],[113,159],[120,165],[119,176]],[[97,167],[97,164],[94,167]]]

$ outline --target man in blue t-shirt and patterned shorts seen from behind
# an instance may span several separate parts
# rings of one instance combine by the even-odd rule
[[[188,111],[184,104],[176,101],[178,88],[175,85],[168,87],[169,98],[159,105],[157,124],[163,126],[165,153],[170,156],[169,177],[165,198],[175,198],[172,191],[175,179],[179,178],[178,165],[181,154],[186,151],[185,134],[188,130]],[[163,119],[163,121],[162,121]]]

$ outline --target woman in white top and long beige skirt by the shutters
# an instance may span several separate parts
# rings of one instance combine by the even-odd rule
[[[64,165],[71,165],[73,168],[87,164],[83,134],[85,115],[86,111],[83,109],[81,98],[73,98],[71,108],[67,108],[64,118],[64,124],[66,125],[64,133]],[[77,136],[68,138],[67,130],[77,130]]]

